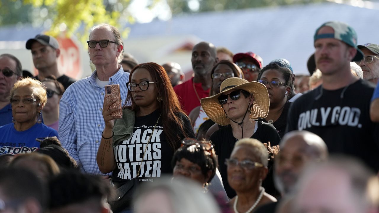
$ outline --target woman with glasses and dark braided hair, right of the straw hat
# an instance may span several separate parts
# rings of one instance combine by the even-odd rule
[[[259,121],[273,124],[280,138],[287,127],[287,113],[291,103],[288,94],[292,88],[292,72],[290,69],[272,63],[263,67],[258,75],[258,82],[266,86],[270,99],[270,108],[265,118]]]

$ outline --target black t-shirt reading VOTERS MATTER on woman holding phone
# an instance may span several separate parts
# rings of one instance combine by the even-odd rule
[[[164,132],[174,131],[175,128],[164,130],[161,116],[152,134],[159,116],[160,111],[156,110],[147,116],[136,117],[132,137],[120,142],[113,148],[117,164],[112,175],[114,182],[123,182],[137,176],[150,136],[150,143],[147,144],[145,158],[141,166],[140,181],[153,181],[155,177],[172,173],[171,159],[174,150],[170,147]],[[180,117],[186,134],[189,137],[195,137],[189,119],[185,115],[180,115]],[[184,138],[184,136],[181,135],[180,138]],[[175,143],[178,143],[179,146],[180,141]]]

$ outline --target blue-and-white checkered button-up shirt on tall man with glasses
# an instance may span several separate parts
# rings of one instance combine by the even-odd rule
[[[105,88],[96,83],[97,73],[76,81],[63,93],[59,107],[59,139],[78,162],[82,172],[100,174],[96,153],[105,123],[102,115]],[[109,84],[119,84],[121,103],[127,96],[129,73],[122,67],[109,78]]]

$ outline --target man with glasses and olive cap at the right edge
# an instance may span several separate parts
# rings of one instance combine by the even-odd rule
[[[363,70],[363,79],[378,83],[379,80],[379,45],[377,44],[365,44],[358,45],[358,48],[362,50],[365,57],[357,61],[357,64]]]

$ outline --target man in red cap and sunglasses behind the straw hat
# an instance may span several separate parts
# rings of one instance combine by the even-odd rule
[[[233,62],[239,66],[247,81],[257,81],[259,71],[262,69],[262,58],[253,53],[237,53],[233,56]]]

